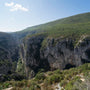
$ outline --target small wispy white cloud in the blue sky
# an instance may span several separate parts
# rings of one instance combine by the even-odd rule
[[[22,5],[14,4],[13,2],[5,3],[5,6],[11,7],[10,11],[18,11],[18,10],[25,11],[25,12],[29,11],[27,8],[23,7]]]

